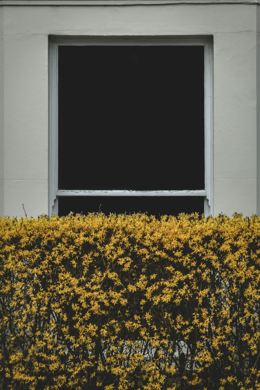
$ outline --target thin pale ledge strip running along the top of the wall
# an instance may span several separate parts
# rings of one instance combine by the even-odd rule
[[[1,5],[168,5],[168,4],[247,4],[260,0],[0,0]]]

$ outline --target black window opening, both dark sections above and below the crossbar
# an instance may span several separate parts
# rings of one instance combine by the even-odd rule
[[[58,46],[58,189],[203,190],[204,169],[204,46]],[[203,197],[68,196],[58,213],[100,204],[204,209]]]

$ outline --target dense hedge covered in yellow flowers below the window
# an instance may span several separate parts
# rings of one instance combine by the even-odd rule
[[[260,218],[0,219],[0,388],[260,389]]]

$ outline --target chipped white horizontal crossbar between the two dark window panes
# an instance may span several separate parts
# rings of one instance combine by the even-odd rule
[[[205,190],[132,191],[132,190],[58,190],[57,196],[206,196]]]

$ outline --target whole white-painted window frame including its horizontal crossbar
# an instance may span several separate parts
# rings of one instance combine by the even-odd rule
[[[204,46],[205,189],[203,190],[58,190],[58,46],[173,45]],[[192,62],[191,62],[192,64]],[[213,41],[210,37],[50,37],[49,40],[49,215],[58,215],[63,196],[201,196],[204,214],[213,213]],[[188,91],[187,91],[188,92]]]

